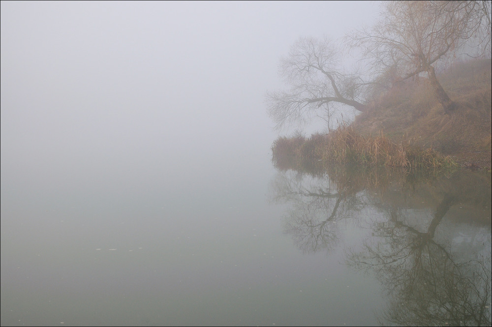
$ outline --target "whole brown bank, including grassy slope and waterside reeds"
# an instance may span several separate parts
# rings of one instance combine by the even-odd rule
[[[348,126],[310,137],[279,137],[274,161],[491,171],[492,60],[459,62],[439,75],[455,103],[445,114],[427,79],[406,81],[370,102]],[[296,159],[297,158],[297,159]]]

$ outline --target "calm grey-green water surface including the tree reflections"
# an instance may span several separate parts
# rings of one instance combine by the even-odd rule
[[[4,171],[1,325],[491,325],[490,177],[230,153]]]

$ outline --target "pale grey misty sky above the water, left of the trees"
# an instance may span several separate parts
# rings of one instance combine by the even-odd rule
[[[268,151],[277,133],[264,95],[283,87],[280,57],[300,36],[337,39],[378,11],[377,1],[1,1],[2,184]]]

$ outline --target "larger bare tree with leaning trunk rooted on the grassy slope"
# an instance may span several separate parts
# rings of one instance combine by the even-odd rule
[[[460,51],[490,56],[490,1],[386,1],[383,19],[358,31],[352,45],[363,46],[371,66],[391,71],[398,82],[427,73],[446,113],[454,103],[436,77],[435,67]],[[475,40],[475,42],[471,42]]]

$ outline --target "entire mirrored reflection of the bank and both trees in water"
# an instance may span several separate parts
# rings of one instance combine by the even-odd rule
[[[277,169],[284,232],[304,253],[343,247],[349,267],[376,276],[382,325],[491,326],[490,174]]]

